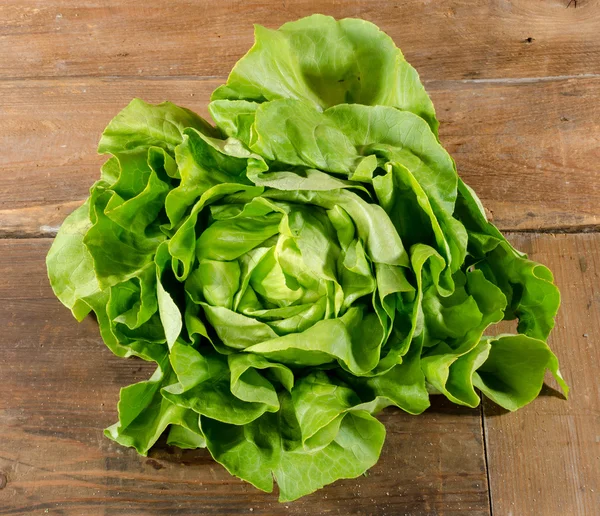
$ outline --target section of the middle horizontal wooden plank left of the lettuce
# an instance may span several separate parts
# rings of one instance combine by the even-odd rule
[[[61,205],[84,199],[99,177],[106,159],[96,153],[100,134],[133,97],[149,102],[170,99],[206,117],[206,104],[217,84],[109,79],[0,82],[0,142],[6,150],[0,155],[0,209],[8,211],[0,216],[2,229],[20,227],[21,215],[10,211],[20,208],[28,210],[25,219],[35,221],[32,231],[40,231],[38,221],[60,224]],[[44,215],[31,210],[46,205],[50,207]]]

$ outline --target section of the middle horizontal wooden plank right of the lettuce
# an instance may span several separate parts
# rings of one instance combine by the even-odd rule
[[[600,223],[600,78],[426,86],[442,143],[501,229]]]

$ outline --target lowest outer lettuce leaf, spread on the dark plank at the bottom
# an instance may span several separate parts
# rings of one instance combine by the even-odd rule
[[[291,397],[281,393],[280,404],[277,414],[244,427],[203,418],[215,460],[264,491],[275,477],[280,502],[358,476],[377,461],[385,430],[350,389],[321,373],[302,380]]]

